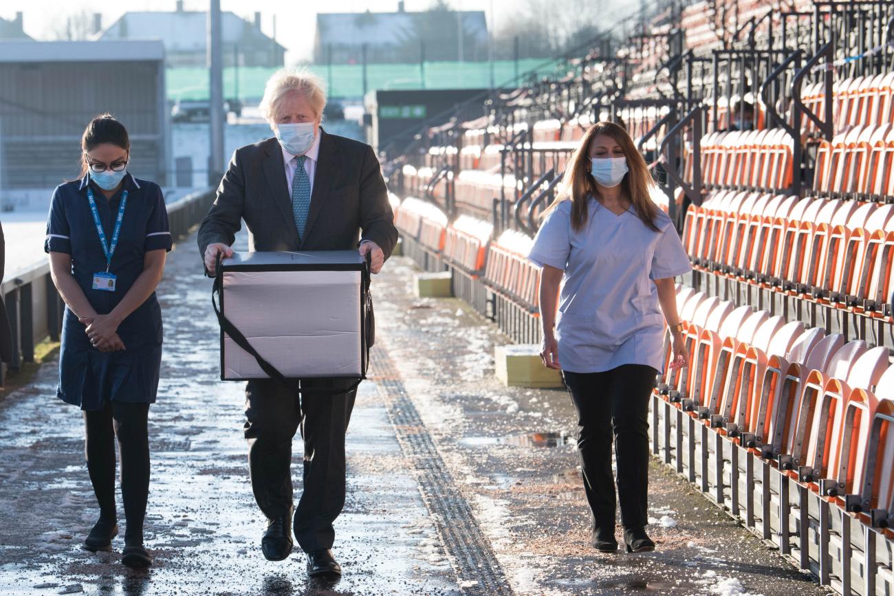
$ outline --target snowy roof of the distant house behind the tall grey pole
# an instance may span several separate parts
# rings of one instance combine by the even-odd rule
[[[168,53],[204,52],[207,38],[207,13],[196,11],[124,13],[105,29],[99,40],[161,39]],[[221,13],[221,39],[224,44],[271,44],[254,23],[240,16]],[[285,49],[282,45],[276,44]]]

